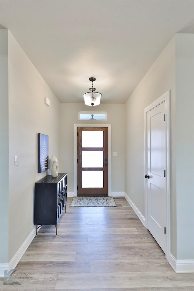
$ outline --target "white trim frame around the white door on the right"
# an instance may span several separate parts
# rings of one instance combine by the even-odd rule
[[[166,259],[169,261],[170,255],[170,90],[152,102],[144,109],[144,175],[147,174],[147,112],[166,102]],[[144,179],[144,199],[145,199],[145,227],[148,229],[148,187]]]

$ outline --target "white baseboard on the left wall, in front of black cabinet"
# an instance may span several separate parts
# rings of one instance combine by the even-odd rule
[[[40,228],[38,229],[38,231]],[[24,255],[25,251],[27,250],[28,246],[32,243],[32,240],[36,236],[36,228],[34,227],[30,234],[27,236],[25,241],[22,243],[18,251],[15,253],[13,258],[9,263],[6,264],[0,264],[0,278],[4,277],[4,271],[10,271],[12,269],[15,269],[19,261],[21,260],[22,256]]]

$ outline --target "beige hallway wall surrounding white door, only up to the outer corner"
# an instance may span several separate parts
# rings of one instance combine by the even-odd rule
[[[144,211],[144,108],[171,90],[175,99],[175,38],[125,103],[125,192],[139,211]],[[174,115],[174,105],[171,106]],[[134,194],[132,194],[132,188]]]

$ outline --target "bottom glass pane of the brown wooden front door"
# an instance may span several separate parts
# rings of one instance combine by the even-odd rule
[[[103,188],[103,171],[83,171],[82,188]]]

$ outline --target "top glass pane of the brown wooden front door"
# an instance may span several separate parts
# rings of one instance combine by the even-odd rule
[[[103,148],[103,131],[82,131],[82,148]]]

